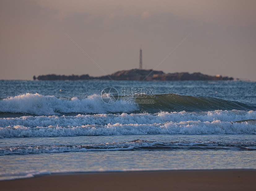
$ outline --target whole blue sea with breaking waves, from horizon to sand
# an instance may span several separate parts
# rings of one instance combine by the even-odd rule
[[[0,80],[0,180],[256,169],[256,82]]]

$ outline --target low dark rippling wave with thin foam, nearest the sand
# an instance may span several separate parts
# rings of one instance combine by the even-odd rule
[[[232,149],[256,150],[256,142],[218,142],[218,141],[180,141],[159,142],[133,140],[128,142],[113,142],[82,145],[38,145],[1,147],[0,155],[38,154],[55,152],[89,152],[89,151],[127,151],[127,150],[173,150],[173,149]]]

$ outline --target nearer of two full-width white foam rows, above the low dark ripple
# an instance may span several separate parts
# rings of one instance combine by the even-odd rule
[[[106,124],[81,126],[26,127],[14,125],[0,128],[0,137],[52,137],[146,134],[256,134],[255,120],[241,122],[168,121],[152,124]]]

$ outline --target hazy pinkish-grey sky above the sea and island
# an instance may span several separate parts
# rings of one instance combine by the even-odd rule
[[[102,76],[141,48],[143,69],[171,52],[155,70],[256,81],[254,0],[1,0],[0,26],[0,79]]]

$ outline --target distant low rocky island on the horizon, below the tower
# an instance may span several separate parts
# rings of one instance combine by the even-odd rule
[[[117,71],[111,75],[104,75],[100,77],[84,75],[39,75],[33,76],[34,80],[83,80],[83,79],[113,79],[113,80],[145,80],[145,81],[180,81],[180,80],[233,80],[232,77],[221,75],[206,75],[200,72],[188,73],[188,72],[175,72],[164,73],[163,71],[143,70],[143,69],[131,69]]]

